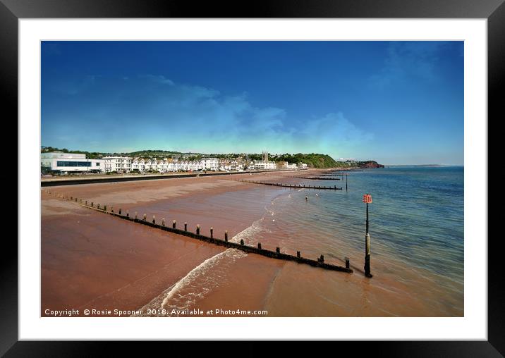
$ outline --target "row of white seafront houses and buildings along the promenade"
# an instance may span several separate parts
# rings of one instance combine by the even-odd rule
[[[178,159],[144,159],[129,156],[104,156],[101,159],[87,159],[85,154],[50,152],[40,155],[42,171],[56,173],[130,173],[156,171],[159,173],[176,171],[244,171],[306,168],[306,164],[288,164],[275,161],[252,161],[202,158],[194,161]]]

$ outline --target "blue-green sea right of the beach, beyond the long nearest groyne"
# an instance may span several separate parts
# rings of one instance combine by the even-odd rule
[[[450,312],[462,312],[463,174],[463,167],[353,171],[348,173],[348,192],[345,180],[305,180],[343,190],[280,194],[255,237],[286,252],[300,250],[304,257],[324,254],[337,264],[350,257],[351,266],[363,270],[362,199],[369,193],[372,273],[404,283],[408,294],[426,295]]]

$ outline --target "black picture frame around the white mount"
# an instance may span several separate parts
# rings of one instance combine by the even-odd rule
[[[503,3],[504,0],[276,0],[236,1],[230,4],[216,1],[195,4],[193,1],[180,0],[0,0],[0,93],[4,103],[2,113],[11,113],[4,122],[13,122],[13,118],[18,118],[18,19],[22,18],[485,18],[488,36],[488,118],[496,118],[494,121],[497,121],[503,118],[504,112],[499,95],[505,77]],[[481,118],[482,121],[486,119]],[[489,185],[487,172],[482,173],[482,180]],[[493,216],[499,213],[492,214],[489,211],[489,214]],[[482,237],[482,240],[487,240],[487,237]],[[487,240],[487,341],[370,342],[366,345],[359,342],[358,352],[369,346],[374,350],[374,355],[379,357],[501,357],[505,352],[505,295],[501,288],[503,271],[500,270],[500,240],[499,236]],[[18,341],[18,245],[13,235],[4,237],[2,252],[0,355],[101,355],[104,351],[97,342]],[[129,344],[123,347],[130,350]],[[343,343],[340,347],[343,347]],[[285,353],[297,349],[296,345],[291,345],[291,349],[288,348]],[[256,351],[259,353],[260,349]],[[133,352],[130,350],[130,353]],[[342,352],[339,348],[339,354]]]

